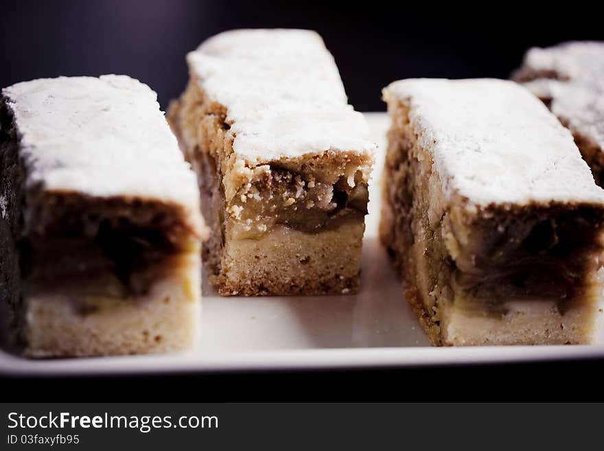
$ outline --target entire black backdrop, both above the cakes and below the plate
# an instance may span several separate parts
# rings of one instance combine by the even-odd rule
[[[590,4],[546,6],[349,1],[1,1],[0,86],[59,75],[126,73],[163,108],[187,81],[185,53],[236,27],[304,27],[325,38],[352,104],[384,109],[380,89],[408,77],[500,77],[524,50],[570,39],[604,40]],[[591,5],[596,5],[592,2]],[[19,378],[0,400],[596,400],[602,360],[435,369],[231,373],[130,378]]]

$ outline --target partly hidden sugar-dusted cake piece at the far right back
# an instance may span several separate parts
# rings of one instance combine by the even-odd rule
[[[529,49],[513,79],[570,129],[596,183],[604,186],[604,42]]]

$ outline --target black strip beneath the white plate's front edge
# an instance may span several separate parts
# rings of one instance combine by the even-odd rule
[[[353,371],[0,378],[0,402],[594,402],[604,399],[603,375],[603,360],[574,360]],[[434,415],[437,421],[438,413]]]

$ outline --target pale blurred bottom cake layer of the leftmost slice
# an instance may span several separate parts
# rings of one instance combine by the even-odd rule
[[[180,258],[180,270],[137,297],[86,295],[64,286],[27,295],[25,354],[77,357],[193,349],[200,322],[201,269],[198,255]]]

